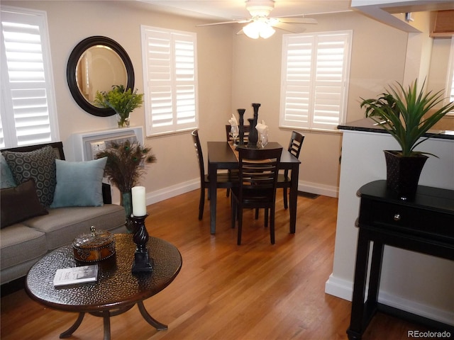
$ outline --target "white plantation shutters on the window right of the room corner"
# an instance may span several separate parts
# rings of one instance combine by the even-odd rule
[[[334,130],[345,118],[352,33],[283,35],[280,126]]]

